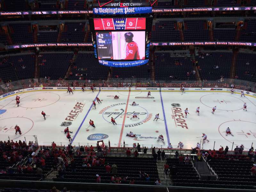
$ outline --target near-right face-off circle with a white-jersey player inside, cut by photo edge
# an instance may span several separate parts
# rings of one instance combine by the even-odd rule
[[[231,133],[234,135],[228,134],[226,136],[226,129],[230,128]],[[234,142],[234,146],[240,146],[244,144],[245,148],[250,147],[253,140],[256,140],[256,123],[250,121],[227,121],[219,126],[219,133],[221,137],[227,140],[230,143]],[[248,143],[248,144],[247,144]],[[235,146],[235,147],[236,147]],[[234,147],[234,148],[235,148]],[[249,149],[249,148],[248,148]]]

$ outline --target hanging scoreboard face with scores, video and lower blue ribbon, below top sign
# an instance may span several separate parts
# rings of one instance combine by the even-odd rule
[[[101,65],[148,63],[153,17],[89,18],[95,58]]]

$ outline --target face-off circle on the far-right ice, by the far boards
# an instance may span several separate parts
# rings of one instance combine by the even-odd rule
[[[243,109],[244,101],[231,95],[225,94],[208,94],[200,98],[200,102],[209,107],[213,108],[217,106],[216,110],[222,111],[236,111]]]

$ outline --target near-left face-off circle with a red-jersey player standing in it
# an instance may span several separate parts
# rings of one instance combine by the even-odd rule
[[[15,135],[15,125],[18,125],[21,130],[21,135],[17,132]],[[27,117],[10,117],[5,119],[0,119],[0,140],[8,139],[11,140],[18,139],[19,137],[24,137],[34,126],[34,122]],[[3,139],[2,139],[3,138]],[[33,138],[32,138],[33,139]]]

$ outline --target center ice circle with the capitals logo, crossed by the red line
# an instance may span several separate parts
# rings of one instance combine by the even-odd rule
[[[116,123],[122,125],[123,118],[125,115],[126,103],[116,103],[110,106],[107,106],[100,110],[99,114],[102,114],[102,117],[105,121],[110,122],[111,117],[116,120]],[[131,119],[133,115],[137,115],[139,118]],[[126,112],[126,121],[124,127],[135,127],[142,125],[143,123],[148,122],[152,118],[152,114],[148,114],[148,111],[141,106],[130,106]]]

